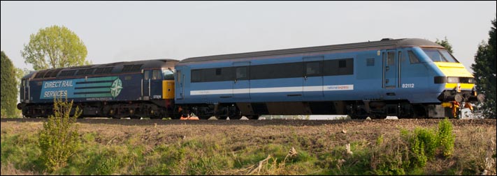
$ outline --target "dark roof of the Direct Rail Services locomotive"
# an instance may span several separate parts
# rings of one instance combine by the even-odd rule
[[[94,65],[81,65],[75,67],[53,68],[47,70],[38,70],[31,72],[23,77],[25,78],[52,78],[52,77],[71,77],[85,76],[96,74],[115,74],[121,72],[138,72],[142,69],[174,67],[178,60],[174,59],[154,59],[144,61],[126,61],[118,63],[104,63]],[[78,73],[76,73],[78,71]],[[58,76],[57,76],[58,75]]]

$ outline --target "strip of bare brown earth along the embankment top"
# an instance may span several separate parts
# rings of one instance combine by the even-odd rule
[[[45,119],[1,119],[2,134],[8,131],[34,131],[43,127]],[[470,129],[493,133],[496,120],[450,120],[456,138],[470,137]],[[120,145],[130,138],[154,146],[175,143],[187,138],[227,140],[233,147],[257,143],[288,143],[291,138],[309,140],[308,150],[345,145],[354,141],[373,142],[379,136],[398,135],[401,129],[438,127],[440,120],[129,120],[78,119],[80,134],[95,133],[95,141],[104,145]],[[4,130],[8,127],[8,131]],[[326,146],[329,145],[329,146]],[[312,152],[312,151],[310,151]]]

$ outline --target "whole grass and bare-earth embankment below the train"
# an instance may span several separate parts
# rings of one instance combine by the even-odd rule
[[[418,164],[412,135],[441,120],[80,119],[79,152],[55,173],[37,159],[43,121],[1,120],[1,175],[496,174],[496,120],[449,120],[452,154]]]

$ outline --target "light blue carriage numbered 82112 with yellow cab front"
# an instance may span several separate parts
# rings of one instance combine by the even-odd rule
[[[444,47],[416,38],[187,58],[175,71],[175,103],[199,118],[442,118],[484,98]]]

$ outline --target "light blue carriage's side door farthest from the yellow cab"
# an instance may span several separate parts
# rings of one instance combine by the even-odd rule
[[[250,99],[250,62],[233,63],[233,98]]]

